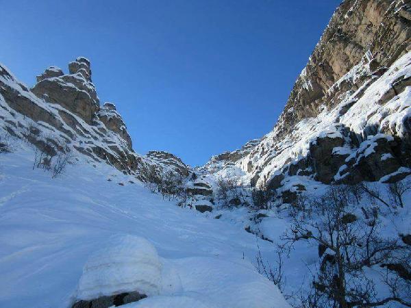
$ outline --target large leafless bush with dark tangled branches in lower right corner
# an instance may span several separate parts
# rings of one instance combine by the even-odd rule
[[[366,188],[364,193],[380,202],[381,196],[375,190]],[[404,278],[403,268],[395,271],[398,259],[409,257],[406,247],[395,239],[382,238],[378,207],[373,203],[370,209],[364,209],[364,218],[352,213],[357,197],[352,188],[332,186],[321,198],[308,198],[303,211],[290,209],[292,228],[284,240],[290,245],[299,240],[316,243],[321,257],[303,307],[375,307],[389,302],[411,307],[409,281]],[[375,281],[364,269],[384,264],[395,281],[388,279],[391,294],[380,298]]]

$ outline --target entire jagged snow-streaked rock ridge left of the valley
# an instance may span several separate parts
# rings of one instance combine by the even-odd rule
[[[90,162],[107,162],[142,181],[148,181],[153,173],[157,177],[163,172],[190,174],[190,167],[169,153],[134,153],[115,105],[99,105],[90,61],[85,57],[69,64],[69,74],[50,66],[36,79],[29,90],[0,65],[1,128],[12,135],[41,149],[47,142],[54,144],[56,149],[47,151],[60,151],[59,144],[67,144]]]

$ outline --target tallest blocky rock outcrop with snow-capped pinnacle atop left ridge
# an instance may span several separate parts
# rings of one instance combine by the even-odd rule
[[[91,82],[90,62],[77,57],[69,64],[69,70],[69,75],[60,75],[61,70],[54,72],[47,68],[31,90],[40,99],[62,105],[90,124],[99,108],[99,98]]]

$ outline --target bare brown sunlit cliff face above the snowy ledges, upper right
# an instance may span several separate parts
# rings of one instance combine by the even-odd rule
[[[277,123],[279,134],[290,132],[303,118],[319,114],[321,105],[335,106],[336,92],[360,86],[364,80],[340,84],[328,92],[364,54],[371,57],[373,72],[405,54],[411,43],[409,5],[408,0],[343,1],[290,93]]]

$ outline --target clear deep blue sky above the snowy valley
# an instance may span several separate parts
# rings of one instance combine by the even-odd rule
[[[202,165],[268,133],[340,0],[0,0],[0,62],[27,86],[91,60],[134,150]]]

